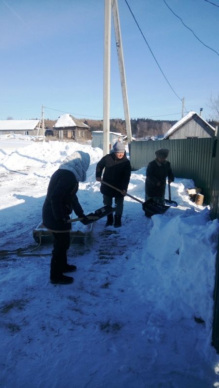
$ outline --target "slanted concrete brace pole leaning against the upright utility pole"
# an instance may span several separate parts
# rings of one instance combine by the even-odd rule
[[[131,143],[131,141],[132,141],[132,129],[131,129],[130,115],[129,115],[129,104],[128,104],[128,94],[127,94],[127,88],[126,88],[124,57],[123,57],[123,50],[122,50],[122,40],[121,40],[119,16],[118,16],[118,2],[117,2],[117,0],[111,0],[111,4],[112,4],[112,13],[113,13],[113,21],[114,21],[114,31],[115,31],[115,36],[116,36],[118,67],[119,67],[120,82],[121,82],[121,88],[122,88],[122,98],[123,98],[123,107],[124,107],[124,115],[125,115],[125,126],[126,126],[127,140],[128,140],[128,143]]]

